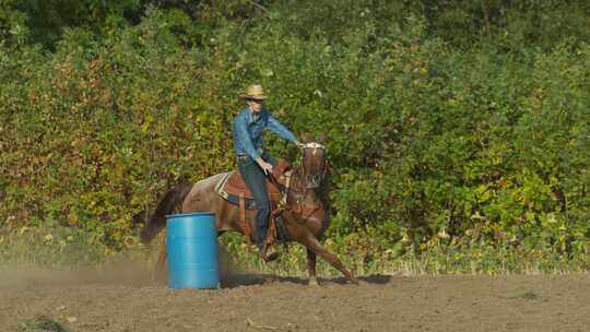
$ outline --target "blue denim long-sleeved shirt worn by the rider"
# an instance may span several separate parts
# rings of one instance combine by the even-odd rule
[[[260,157],[262,154],[262,129],[267,127],[284,140],[292,142],[297,140],[268,109],[264,108],[255,116],[250,108],[246,107],[234,119],[233,135],[236,154],[238,156],[249,155],[253,159]]]

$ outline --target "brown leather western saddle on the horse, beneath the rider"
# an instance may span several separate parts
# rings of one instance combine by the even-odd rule
[[[287,188],[291,181],[291,164],[285,159],[279,159],[279,165],[272,168],[273,178]],[[284,200],[286,199],[286,195],[283,197],[283,193],[278,188],[276,183],[271,182],[270,177],[267,178],[266,185],[272,209],[267,234],[267,245],[269,246],[276,241],[278,235],[284,234],[282,225],[279,226],[280,229],[278,234],[275,217],[281,214],[282,209],[279,206],[285,203]],[[244,230],[246,241],[248,245],[251,245],[252,229],[250,223],[246,221],[246,210],[256,210],[256,202],[239,171],[234,170],[226,173],[215,186],[215,191],[227,202],[239,206],[239,223]]]

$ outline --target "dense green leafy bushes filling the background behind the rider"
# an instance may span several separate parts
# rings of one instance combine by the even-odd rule
[[[326,241],[353,264],[588,269],[585,1],[74,2],[0,2],[3,232],[135,247],[180,176],[235,167],[237,94],[260,82],[296,133],[327,133]]]

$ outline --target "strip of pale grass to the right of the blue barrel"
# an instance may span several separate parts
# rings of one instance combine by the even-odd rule
[[[266,264],[260,262],[256,254],[247,251],[239,236],[222,238],[222,242],[238,265],[247,270],[279,275],[307,275],[306,253],[300,245],[291,245],[288,253],[283,250],[278,262]],[[563,274],[588,272],[590,266],[590,258],[586,254],[571,258],[548,250],[523,251],[509,246],[486,244],[461,247],[437,245],[418,253],[411,248],[403,253],[396,253],[387,250],[351,251],[334,244],[328,247],[356,275]],[[317,262],[318,275],[341,275],[326,261],[318,259]]]

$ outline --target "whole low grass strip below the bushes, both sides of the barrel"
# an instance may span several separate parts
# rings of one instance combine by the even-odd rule
[[[161,235],[162,236],[162,235]],[[281,248],[276,262],[263,263],[256,251],[248,251],[241,236],[226,235],[220,240],[233,265],[249,272],[276,275],[307,275],[305,249],[290,244],[288,252]],[[129,246],[114,251],[92,241],[83,232],[68,229],[26,228],[0,234],[0,266],[43,266],[50,269],[87,269],[116,260],[128,259],[154,265],[161,239],[148,248]],[[529,250],[489,244],[469,244],[450,247],[430,246],[423,250],[405,249],[403,252],[386,250],[366,252],[352,250],[329,241],[327,245],[356,275],[436,275],[436,274],[563,274],[589,271],[588,254],[567,257],[551,250]],[[340,276],[340,272],[321,259],[317,260],[319,276]]]

